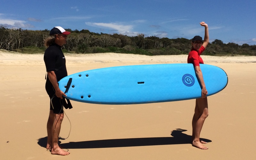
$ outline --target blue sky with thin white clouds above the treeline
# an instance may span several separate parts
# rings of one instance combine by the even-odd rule
[[[0,25],[28,30],[55,26],[90,32],[256,44],[255,0],[1,0]]]

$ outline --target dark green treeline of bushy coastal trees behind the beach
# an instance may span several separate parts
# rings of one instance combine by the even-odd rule
[[[177,55],[188,54],[191,49],[191,39],[186,38],[159,38],[156,36],[144,37],[126,36],[122,34],[94,33],[89,30],[71,30],[67,44],[63,46],[64,52],[76,53],[134,53],[146,55]],[[24,30],[0,26],[0,49],[20,50],[38,48],[45,50],[44,39],[48,37],[49,30]],[[209,44],[204,55],[251,55],[256,56],[256,45],[224,44],[216,39]]]

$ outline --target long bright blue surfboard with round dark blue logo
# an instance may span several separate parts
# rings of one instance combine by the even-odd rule
[[[228,84],[226,72],[200,64],[208,95]],[[192,64],[153,64],[93,69],[62,78],[67,99],[94,104],[142,104],[201,97]]]

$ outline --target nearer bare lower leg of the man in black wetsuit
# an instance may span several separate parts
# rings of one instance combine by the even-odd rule
[[[64,114],[54,114],[54,126],[52,126],[52,151],[53,155],[66,156],[69,155],[69,152],[64,151],[59,147],[58,140],[60,134],[60,127],[63,120]],[[55,120],[56,119],[56,120]],[[54,130],[55,127],[55,130]]]

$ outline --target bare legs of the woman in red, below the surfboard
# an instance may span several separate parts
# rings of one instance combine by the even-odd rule
[[[200,141],[200,132],[202,130],[204,120],[208,115],[209,113],[208,113],[207,97],[196,99],[195,114],[192,120],[192,128],[193,128],[192,138],[194,138],[192,145],[200,149],[208,149],[208,147],[205,147],[203,145],[203,144],[206,144],[206,142]]]

